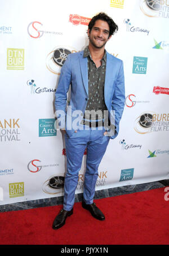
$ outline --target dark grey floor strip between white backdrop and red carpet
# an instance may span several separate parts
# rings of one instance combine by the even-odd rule
[[[131,194],[131,193],[146,191],[150,189],[163,188],[164,186],[169,186],[169,180],[161,180],[161,181],[155,181],[151,183],[120,186],[117,188],[97,190],[95,192],[95,199],[115,197],[123,194]],[[82,201],[82,193],[75,194],[75,202],[81,202],[81,201]],[[45,199],[37,199],[33,201],[10,203],[9,205],[1,205],[0,212],[17,211],[17,210],[32,209],[37,207],[62,205],[62,204],[63,204],[63,196],[52,197],[52,198],[45,198]]]

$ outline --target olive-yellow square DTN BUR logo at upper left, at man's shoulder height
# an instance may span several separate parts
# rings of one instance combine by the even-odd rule
[[[24,49],[7,49],[7,70],[24,70]]]

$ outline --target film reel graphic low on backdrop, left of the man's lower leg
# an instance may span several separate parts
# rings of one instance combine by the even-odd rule
[[[63,192],[65,177],[51,176],[48,180],[43,183],[42,190],[47,194],[59,194]]]

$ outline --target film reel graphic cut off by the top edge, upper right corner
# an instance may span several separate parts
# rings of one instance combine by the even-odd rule
[[[161,0],[140,0],[140,9],[148,17],[158,18]]]

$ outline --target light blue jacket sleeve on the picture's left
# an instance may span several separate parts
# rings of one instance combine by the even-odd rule
[[[59,128],[65,127],[67,93],[71,83],[71,77],[70,55],[68,55],[61,68],[59,83],[55,93],[55,114],[59,121]]]

